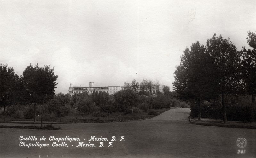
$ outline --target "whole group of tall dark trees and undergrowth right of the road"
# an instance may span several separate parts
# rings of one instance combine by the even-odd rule
[[[237,51],[230,39],[214,35],[206,46],[187,47],[174,72],[178,97],[191,103],[191,117],[254,121],[256,94],[256,34]],[[251,101],[248,101],[251,96]]]

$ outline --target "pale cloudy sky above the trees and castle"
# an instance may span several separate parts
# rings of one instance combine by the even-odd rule
[[[159,81],[172,90],[186,47],[213,33],[249,48],[256,2],[181,0],[0,1],[0,63],[18,75],[30,65],[54,67],[55,93],[75,86]]]

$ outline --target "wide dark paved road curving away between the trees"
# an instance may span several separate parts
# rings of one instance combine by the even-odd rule
[[[256,157],[255,129],[190,124],[189,112],[189,109],[172,109],[152,119],[133,122],[60,124],[62,130],[2,128],[0,157]],[[20,147],[21,135],[38,139],[44,136],[50,146]],[[65,141],[68,148],[52,147],[50,136],[79,137],[84,143],[88,143],[91,136],[102,136],[108,142],[102,141],[104,147],[99,147],[99,141],[90,142],[97,147],[76,147],[78,141]],[[117,141],[113,141],[113,147],[107,147],[112,136],[116,136]],[[119,141],[121,136],[125,141]],[[248,142],[245,154],[237,154],[241,149],[236,140],[240,137]]]

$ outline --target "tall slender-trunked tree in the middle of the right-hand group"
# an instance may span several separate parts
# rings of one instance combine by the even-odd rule
[[[221,95],[224,123],[226,123],[227,116],[224,98],[228,94],[237,93],[241,85],[239,78],[241,53],[236,51],[236,46],[229,38],[228,40],[223,39],[221,35],[216,37],[215,33],[212,39],[207,39],[206,51],[212,57],[216,67],[215,77],[218,83],[218,91]]]

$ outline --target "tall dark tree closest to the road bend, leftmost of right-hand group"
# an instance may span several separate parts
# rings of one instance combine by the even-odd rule
[[[181,99],[194,99],[198,104],[198,120],[201,119],[200,103],[204,99],[215,97],[217,83],[213,60],[205,52],[199,41],[191,45],[191,51],[185,49],[181,63],[177,66],[173,85]]]

